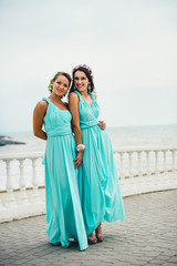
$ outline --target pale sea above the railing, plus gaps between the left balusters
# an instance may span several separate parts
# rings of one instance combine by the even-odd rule
[[[106,129],[113,150],[114,149],[176,149],[177,147],[177,124],[169,125],[146,125],[146,126],[124,126]],[[45,141],[33,136],[32,132],[3,132],[0,133],[1,140],[22,142],[24,144],[8,144],[0,146],[0,156],[19,153],[43,152]],[[27,187],[32,186],[32,165],[31,161],[24,162],[24,174]],[[44,167],[42,160],[39,161],[38,170],[39,186],[44,185]],[[13,188],[19,188],[20,170],[19,162],[11,162],[11,173],[13,177]],[[0,160],[0,191],[6,191],[6,163]]]

